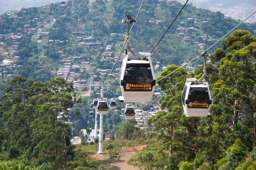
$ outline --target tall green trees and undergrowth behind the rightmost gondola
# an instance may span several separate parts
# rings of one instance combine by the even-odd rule
[[[160,144],[150,145],[136,158],[139,165],[156,169],[246,169],[255,168],[255,49],[256,37],[236,30],[211,55],[208,64],[213,103],[208,117],[185,117],[181,92],[186,78],[200,77],[203,67],[188,74],[186,69],[164,78],[159,86],[166,92],[162,108],[149,120],[151,136]],[[162,78],[178,68],[170,65]],[[161,147],[159,147],[159,145]],[[249,168],[249,169],[250,169]]]

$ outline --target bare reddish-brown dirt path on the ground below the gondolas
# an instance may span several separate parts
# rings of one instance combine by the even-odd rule
[[[127,148],[126,150],[119,151],[118,153],[121,155],[119,161],[117,161],[117,159],[109,159],[108,157],[103,155],[93,155],[92,158],[105,160],[105,162],[111,167],[114,167],[115,170],[137,170],[139,169],[139,167],[129,164],[128,161],[131,159],[133,155],[136,155],[137,153],[142,151],[142,149],[146,146],[147,145],[134,146]]]

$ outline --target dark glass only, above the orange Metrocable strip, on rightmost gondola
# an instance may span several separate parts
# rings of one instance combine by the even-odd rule
[[[210,100],[208,88],[190,87],[188,93],[190,102],[206,103]]]

